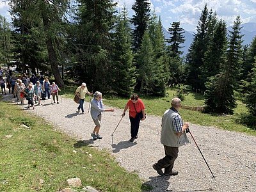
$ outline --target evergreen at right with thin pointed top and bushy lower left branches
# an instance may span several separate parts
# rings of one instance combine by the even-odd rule
[[[209,78],[206,83],[205,111],[207,113],[232,114],[236,108],[234,90],[237,88],[237,76],[241,65],[241,21],[237,16],[232,31],[229,31],[227,61],[221,65],[220,74]]]

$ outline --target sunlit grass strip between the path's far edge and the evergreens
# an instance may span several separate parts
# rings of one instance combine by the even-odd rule
[[[168,90],[168,96],[166,97],[142,97],[141,99],[143,99],[146,106],[146,113],[150,115],[162,116],[164,111],[170,108],[170,101],[175,93],[176,90]],[[124,108],[128,99],[129,98],[124,99],[118,97],[106,97],[104,98],[104,104],[114,106],[116,108]],[[182,106],[204,106],[204,97],[199,93],[186,92],[185,99],[182,101]],[[247,109],[245,105],[237,101],[237,108],[234,111],[234,115],[211,115],[188,109],[180,109],[180,114],[182,115],[184,121],[191,122],[192,124],[214,126],[220,129],[245,132],[246,134],[256,136],[255,130],[236,123],[236,118],[239,118],[239,116],[246,111]]]

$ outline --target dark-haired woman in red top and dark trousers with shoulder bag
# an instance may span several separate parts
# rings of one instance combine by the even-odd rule
[[[131,95],[131,99],[128,100],[124,113],[122,116],[125,116],[125,111],[129,108],[129,118],[131,122],[131,142],[138,138],[138,131],[140,127],[140,120],[145,120],[145,105],[142,100],[139,99],[138,95]],[[142,117],[140,118],[139,113],[142,112]]]

